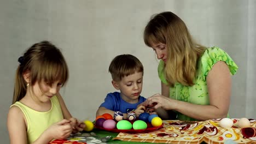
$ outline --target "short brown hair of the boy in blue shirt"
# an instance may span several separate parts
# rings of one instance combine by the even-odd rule
[[[108,68],[114,81],[120,81],[124,76],[134,74],[135,72],[142,72],[143,75],[143,70],[141,61],[129,54],[116,56]]]

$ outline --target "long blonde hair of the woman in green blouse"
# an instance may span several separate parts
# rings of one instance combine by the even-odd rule
[[[166,11],[153,15],[144,29],[144,43],[163,43],[167,47],[164,74],[170,86],[179,82],[194,85],[197,59],[206,47],[195,43],[185,23],[175,14]]]

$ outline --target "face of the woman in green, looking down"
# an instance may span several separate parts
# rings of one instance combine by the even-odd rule
[[[152,49],[155,51],[158,59],[162,59],[162,61],[166,63],[166,60],[167,60],[166,44],[163,44],[163,43],[152,44]]]

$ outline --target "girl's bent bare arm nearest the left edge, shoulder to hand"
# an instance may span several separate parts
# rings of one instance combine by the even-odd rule
[[[53,139],[65,139],[72,128],[70,121],[63,119],[61,122],[51,125],[33,143],[49,143]],[[12,106],[8,113],[7,127],[10,143],[27,143],[27,126],[24,114],[17,106]]]

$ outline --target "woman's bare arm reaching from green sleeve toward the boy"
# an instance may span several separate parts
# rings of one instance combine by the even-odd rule
[[[158,103],[155,108],[176,110],[189,117],[205,121],[212,118],[226,117],[229,110],[231,94],[231,75],[225,62],[214,64],[206,78],[210,105],[196,105],[184,101],[166,98],[156,94],[149,98],[151,103]]]

